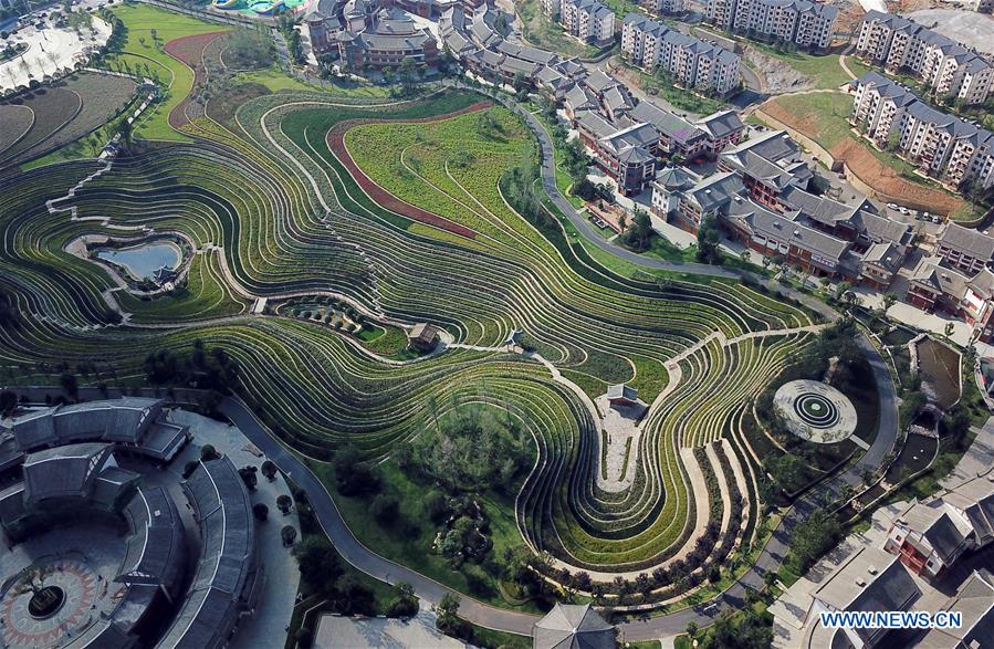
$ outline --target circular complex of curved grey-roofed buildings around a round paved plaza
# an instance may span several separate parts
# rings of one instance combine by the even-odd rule
[[[45,408],[0,428],[3,647],[228,645],[261,592],[255,522],[228,458],[178,484],[166,464],[187,441],[158,399]],[[167,478],[146,484],[149,473]]]

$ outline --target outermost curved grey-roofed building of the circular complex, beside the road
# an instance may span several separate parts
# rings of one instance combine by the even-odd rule
[[[200,462],[182,489],[200,526],[200,561],[187,599],[158,647],[219,647],[242,613],[255,606],[262,568],[252,503],[228,458]]]

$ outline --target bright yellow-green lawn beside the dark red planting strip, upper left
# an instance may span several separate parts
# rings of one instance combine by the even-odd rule
[[[168,90],[165,98],[150,106],[139,119],[135,135],[145,139],[169,142],[190,142],[187,136],[177,133],[169,126],[169,112],[172,111],[190,93],[193,87],[193,71],[181,61],[166,53],[165,44],[175,39],[203,34],[208,32],[228,31],[230,28],[211,24],[181,13],[174,13],[149,4],[118,4],[111,9],[124,21],[127,29],[127,41],[121,53],[107,55],[112,70],[124,65],[132,69],[149,66]],[[153,41],[151,30],[156,30]],[[144,44],[142,40],[144,39]]]

